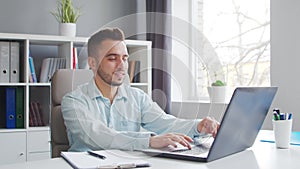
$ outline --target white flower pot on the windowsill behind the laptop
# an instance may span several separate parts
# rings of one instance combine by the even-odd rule
[[[211,103],[226,103],[228,101],[227,86],[207,87]]]

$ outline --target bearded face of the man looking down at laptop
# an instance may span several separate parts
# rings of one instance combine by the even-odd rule
[[[108,85],[120,86],[128,69],[128,52],[124,41],[104,40],[98,54],[96,76]]]

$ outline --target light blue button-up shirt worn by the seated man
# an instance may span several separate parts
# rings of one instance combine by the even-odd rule
[[[199,135],[199,120],[166,114],[145,92],[126,84],[118,88],[111,104],[92,79],[66,94],[61,108],[69,151],[140,150],[149,147],[151,134]]]

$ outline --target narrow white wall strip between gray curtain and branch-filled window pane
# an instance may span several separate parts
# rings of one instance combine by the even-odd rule
[[[190,1],[173,0],[172,10],[172,100],[182,101],[191,99],[193,86],[191,79],[195,79],[191,72],[190,57]]]

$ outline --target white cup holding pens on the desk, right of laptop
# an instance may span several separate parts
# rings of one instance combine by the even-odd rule
[[[277,148],[289,148],[293,120],[273,120],[273,130]]]

